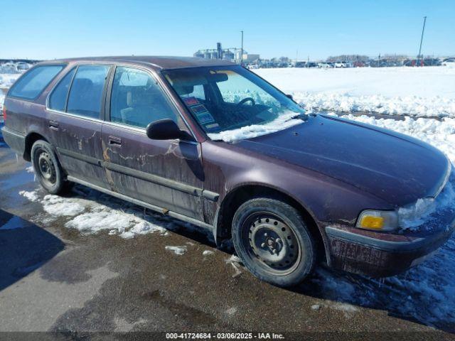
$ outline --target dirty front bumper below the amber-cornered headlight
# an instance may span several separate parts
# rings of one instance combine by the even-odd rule
[[[325,227],[331,267],[372,277],[400,274],[444,244],[455,229],[455,212],[448,210],[419,232],[389,234],[345,225]]]

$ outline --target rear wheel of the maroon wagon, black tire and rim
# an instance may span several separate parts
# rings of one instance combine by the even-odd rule
[[[41,186],[50,194],[61,194],[71,188],[72,183],[65,179],[55,151],[48,142],[36,141],[31,147],[33,170]]]

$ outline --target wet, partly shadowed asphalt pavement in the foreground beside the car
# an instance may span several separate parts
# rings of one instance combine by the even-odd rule
[[[174,224],[166,234],[132,239],[109,235],[108,229],[89,234],[68,228],[69,217],[50,215],[41,202],[18,194],[36,190],[38,197],[45,195],[26,171],[29,166],[0,146],[0,332],[336,331],[359,332],[360,338],[393,332],[401,340],[454,336],[451,319],[435,322],[402,313],[400,304],[410,304],[403,288],[384,288],[381,281],[321,267],[298,288],[277,288],[257,280],[231,261],[230,253],[216,249],[207,234],[185,224]],[[78,187],[69,197],[84,195]],[[122,202],[112,197],[92,198],[121,210]],[[143,212],[133,209],[139,216]],[[169,246],[181,247],[183,254]],[[380,299],[366,299],[375,291]],[[382,302],[389,293],[397,305]],[[330,338],[346,340],[343,335]]]

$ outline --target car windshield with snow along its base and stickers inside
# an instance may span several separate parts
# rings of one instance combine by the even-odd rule
[[[213,140],[235,141],[270,134],[306,119],[298,104],[239,65],[163,73]]]

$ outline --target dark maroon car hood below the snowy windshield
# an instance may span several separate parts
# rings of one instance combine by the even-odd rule
[[[237,146],[336,178],[396,207],[437,195],[449,167],[444,153],[410,136],[323,115]]]

